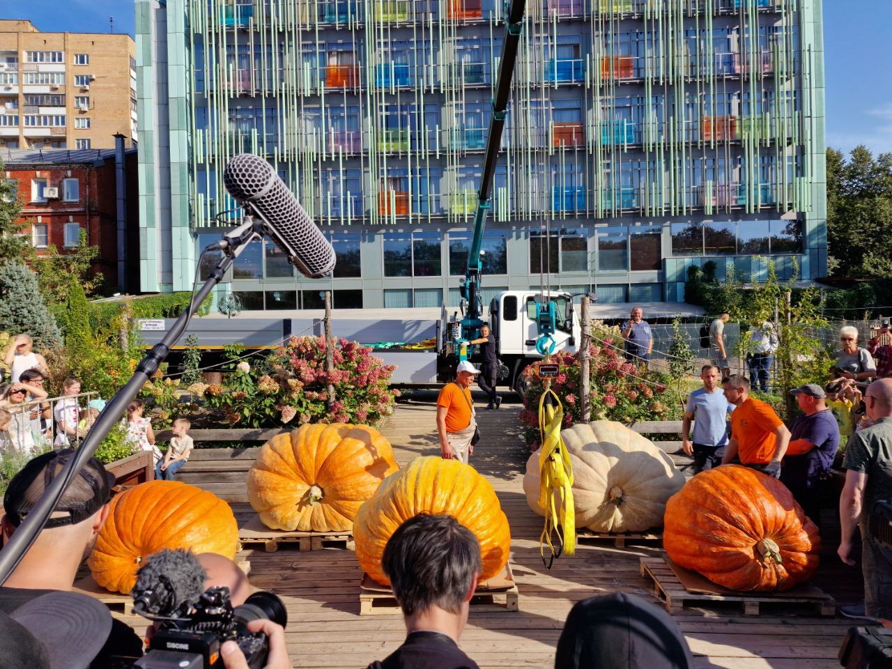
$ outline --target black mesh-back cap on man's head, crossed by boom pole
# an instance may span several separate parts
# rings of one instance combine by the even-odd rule
[[[62,472],[62,468],[74,457],[74,449],[51,450],[32,458],[21,472],[12,477],[3,498],[6,517],[18,527],[43,495],[46,487]],[[62,493],[54,513],[67,511],[68,516],[51,517],[45,528],[78,524],[93,516],[103,504],[111,500],[114,475],[96,458],[90,458],[81,467],[68,488]]]

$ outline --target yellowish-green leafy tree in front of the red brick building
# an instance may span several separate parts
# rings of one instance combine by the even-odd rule
[[[84,229],[80,231],[78,245],[64,253],[50,244],[45,253],[33,260],[41,293],[54,304],[65,304],[73,285],[80,285],[87,296],[93,295],[103,285],[103,275],[91,271],[97,257],[99,247],[87,243]]]

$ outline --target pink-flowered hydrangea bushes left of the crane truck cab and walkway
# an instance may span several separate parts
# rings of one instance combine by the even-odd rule
[[[230,363],[222,384],[181,384],[153,379],[144,394],[154,399],[153,417],[173,418],[211,412],[227,425],[271,427],[304,423],[377,425],[393,410],[399,390],[388,387],[393,367],[371,349],[341,339],[333,351],[335,368],[326,372],[324,337],[291,337],[266,359]],[[335,401],[329,406],[328,386]]]

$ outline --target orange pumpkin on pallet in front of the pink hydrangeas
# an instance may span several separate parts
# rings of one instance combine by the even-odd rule
[[[301,425],[263,444],[248,500],[274,530],[346,531],[397,468],[390,442],[368,425]]]

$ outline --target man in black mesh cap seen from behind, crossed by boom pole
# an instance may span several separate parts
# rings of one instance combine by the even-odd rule
[[[12,536],[74,452],[65,449],[44,453],[32,458],[12,477],[3,500],[5,516],[0,522],[4,538]],[[108,517],[113,483],[114,476],[105,471],[103,463],[96,458],[87,460],[62,493],[31,548],[0,587],[0,612],[14,614],[48,592],[71,590],[78,567],[93,549]],[[142,648],[136,633],[120,620],[114,620],[111,633],[91,666],[111,666],[114,656],[140,657]]]

